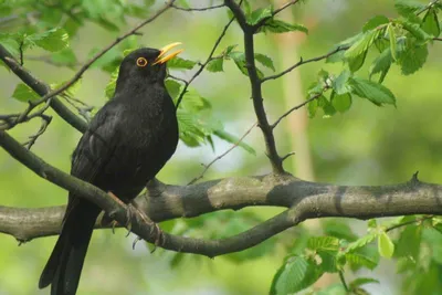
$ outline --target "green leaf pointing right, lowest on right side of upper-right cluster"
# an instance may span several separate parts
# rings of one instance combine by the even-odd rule
[[[396,105],[396,97],[386,86],[371,82],[369,80],[352,77],[350,78],[352,93],[369,99],[371,103],[380,106],[382,104]]]

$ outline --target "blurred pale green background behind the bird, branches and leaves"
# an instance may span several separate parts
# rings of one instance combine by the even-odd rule
[[[206,6],[204,2],[189,1],[194,7]],[[256,1],[254,4],[264,6],[266,1]],[[309,35],[305,38],[301,33],[294,33],[287,40],[298,44],[297,48],[293,46],[297,51],[294,55],[305,59],[322,55],[334,44],[357,33],[367,19],[375,14],[394,15],[390,1],[307,1],[296,6],[294,17],[296,22],[304,23],[309,29]],[[193,13],[170,10],[144,28],[144,34],[137,38],[141,44],[154,48],[181,41],[186,49],[183,57],[204,61],[227,20],[225,9]],[[131,28],[137,22],[129,20],[125,27]],[[86,23],[71,44],[78,60],[86,61],[92,49],[107,45],[117,35],[118,33],[108,32],[94,23]],[[284,38],[256,35],[256,51],[272,57],[277,71],[290,65],[280,52],[281,45],[285,44]],[[242,46],[236,24],[229,30],[220,49],[230,44]],[[41,54],[39,50],[29,53]],[[372,60],[372,56],[368,59]],[[66,81],[75,73],[36,61],[25,60],[25,66],[48,83]],[[315,80],[320,69],[338,73],[340,65],[318,62],[302,66],[301,93],[305,93],[305,88]],[[311,155],[297,151],[285,162],[286,169],[295,176],[303,176],[304,171],[296,165],[303,160],[311,165],[312,180],[338,185],[397,183],[407,181],[417,170],[420,171],[422,180],[441,182],[441,44],[434,44],[430,46],[429,61],[422,71],[411,76],[402,76],[398,69],[392,69],[387,76],[385,84],[396,94],[397,108],[376,107],[368,101],[355,99],[348,113],[332,118],[316,116],[308,119],[305,130],[308,139],[307,151]],[[270,71],[265,73],[271,74]],[[361,70],[359,75],[366,73],[366,70]],[[191,74],[189,71],[177,75],[190,77]],[[90,105],[103,105],[106,102],[104,88],[108,80],[108,73],[97,69],[87,71],[76,97]],[[299,89],[285,95],[282,91],[287,84],[298,83],[296,80],[296,74],[291,73],[284,80],[265,84],[265,106],[271,120],[296,104],[294,96]],[[0,113],[23,109],[22,103],[11,98],[19,78],[0,67]],[[233,64],[225,65],[224,73],[203,73],[194,82],[194,87],[211,102],[214,116],[223,122],[228,131],[241,136],[255,122],[249,98],[248,77]],[[294,135],[294,129],[299,128],[290,123],[291,120],[284,120],[277,128],[276,141],[281,155],[294,149],[295,143],[290,138],[299,138]],[[11,134],[24,140],[28,134],[38,128],[39,122],[35,120],[14,128]],[[80,136],[78,131],[54,115],[50,128],[33,147],[33,151],[51,165],[69,171],[70,156]],[[245,141],[254,147],[256,156],[236,148],[218,161],[203,180],[270,172],[260,130],[255,128]],[[210,146],[189,148],[180,143],[175,157],[158,178],[167,183],[186,185],[201,172],[201,162],[208,164],[229,146],[224,141],[215,140],[213,151]],[[40,179],[11,159],[2,149],[0,196],[0,204],[10,207],[38,208],[66,201],[66,192],[63,189]],[[257,213],[261,219],[265,219],[281,210],[260,208],[245,211]],[[193,234],[208,238],[208,232],[213,230],[210,226],[222,226],[235,218],[235,213],[210,215],[212,221],[204,223],[204,228]],[[217,220],[218,217],[220,220]],[[364,232],[362,222],[349,222],[356,230]],[[175,225],[179,226],[178,223]],[[317,228],[314,222],[308,225]],[[150,254],[143,243],[138,243],[133,251],[131,242],[135,236],[125,238],[125,230],[117,230],[115,234],[110,231],[96,231],[88,250],[78,294],[267,294],[271,280],[282,263],[287,245],[293,243],[299,231],[301,229],[290,230],[273,239],[276,245],[259,259],[236,260],[227,255],[209,260],[185,255],[177,266],[171,265],[176,259],[173,253],[158,250]],[[48,289],[38,291],[36,283],[54,243],[55,236],[36,239],[18,246],[12,236],[0,234],[0,294],[48,294]],[[367,287],[371,294],[401,294],[401,278],[394,275],[392,263],[382,262],[370,276],[381,281],[380,285]],[[337,277],[330,276],[326,280],[330,282]]]

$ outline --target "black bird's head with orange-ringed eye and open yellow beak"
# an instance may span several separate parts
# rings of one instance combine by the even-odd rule
[[[117,88],[162,83],[166,78],[166,62],[182,52],[171,50],[180,44],[176,42],[160,50],[143,48],[130,52],[119,66]]]

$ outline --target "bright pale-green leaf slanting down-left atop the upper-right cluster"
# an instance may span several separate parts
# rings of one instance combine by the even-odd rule
[[[379,31],[377,30],[367,31],[346,51],[345,57],[351,72],[356,72],[362,66],[368,49],[378,35]]]

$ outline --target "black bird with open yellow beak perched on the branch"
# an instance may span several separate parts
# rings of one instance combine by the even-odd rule
[[[165,87],[166,62],[181,52],[139,49],[119,66],[113,99],[92,119],[72,157],[71,175],[116,196],[133,200],[172,156],[178,123]],[[74,295],[95,221],[102,210],[69,194],[62,231],[41,274],[39,287],[51,295]]]

